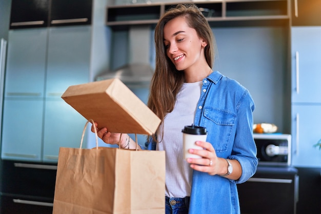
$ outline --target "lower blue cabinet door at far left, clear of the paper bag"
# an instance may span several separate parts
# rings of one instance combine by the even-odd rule
[[[41,160],[43,105],[37,99],[5,99],[2,159]]]

